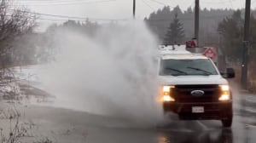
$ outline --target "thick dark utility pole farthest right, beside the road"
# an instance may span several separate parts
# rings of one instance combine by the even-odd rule
[[[248,66],[248,47],[249,47],[249,32],[250,32],[250,14],[251,0],[246,0],[245,22],[244,22],[244,37],[241,60],[241,88],[247,89],[247,66]]]

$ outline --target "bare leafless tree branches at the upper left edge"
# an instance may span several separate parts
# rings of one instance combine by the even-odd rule
[[[0,3],[0,67],[10,63],[13,43],[22,35],[32,32],[36,26],[36,14],[28,9],[15,9],[11,0]]]

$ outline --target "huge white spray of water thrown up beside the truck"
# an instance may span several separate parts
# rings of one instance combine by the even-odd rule
[[[157,123],[157,40],[142,22],[102,27],[96,37],[63,30],[42,83],[56,106]]]

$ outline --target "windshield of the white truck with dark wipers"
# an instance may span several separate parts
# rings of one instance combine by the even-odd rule
[[[160,76],[187,76],[187,75],[218,75],[211,60],[193,59],[193,60],[161,60]]]

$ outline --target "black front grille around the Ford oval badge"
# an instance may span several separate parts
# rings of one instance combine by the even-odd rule
[[[194,90],[204,91],[203,95],[192,95]],[[218,97],[221,94],[221,90],[216,84],[208,85],[176,85],[172,89],[172,96],[177,102],[215,102],[218,101]]]

